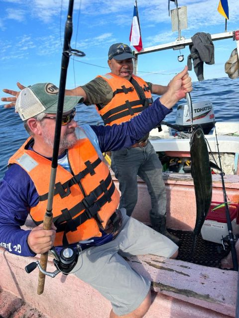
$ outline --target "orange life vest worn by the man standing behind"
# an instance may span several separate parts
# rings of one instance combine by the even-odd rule
[[[105,79],[113,90],[112,100],[102,109],[97,107],[97,111],[101,115],[105,125],[119,125],[122,122],[128,121],[153,102],[148,84],[135,75],[132,75],[132,80],[136,81],[136,84],[139,85],[138,89],[142,89],[141,93],[145,96],[143,99],[140,99],[136,89],[127,79],[120,78],[112,73],[98,77]]]

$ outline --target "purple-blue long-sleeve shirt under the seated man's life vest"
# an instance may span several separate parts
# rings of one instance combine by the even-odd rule
[[[130,147],[170,112],[158,98],[143,112],[120,125],[87,126],[94,131],[100,148],[98,151],[103,153]],[[35,255],[27,244],[30,230],[22,230],[20,226],[24,225],[30,207],[37,203],[38,194],[31,178],[18,164],[12,164],[0,181],[0,246],[17,255]],[[110,239],[111,236],[104,234],[96,241],[102,244]]]

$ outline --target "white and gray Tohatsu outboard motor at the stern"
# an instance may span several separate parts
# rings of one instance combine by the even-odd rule
[[[205,135],[209,134],[214,126],[213,104],[209,100],[193,103],[193,126],[200,125]],[[176,124],[181,131],[191,129],[190,112],[188,104],[180,104],[176,113]]]

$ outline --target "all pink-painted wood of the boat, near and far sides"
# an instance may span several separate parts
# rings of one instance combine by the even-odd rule
[[[226,176],[229,200],[239,202],[239,176]],[[194,228],[196,204],[192,179],[187,175],[165,174],[168,196],[167,226]],[[150,200],[145,184],[139,180],[139,202],[134,217],[149,223]],[[213,201],[222,201],[218,176],[213,176]],[[111,304],[74,275],[46,277],[45,290],[37,295],[38,270],[26,274],[24,267],[34,258],[15,256],[0,247],[0,300],[35,308],[42,318],[106,318]],[[152,281],[153,303],[145,318],[229,318],[235,317],[238,273],[196,265],[154,255],[130,257],[130,265]],[[54,271],[48,261],[48,271]],[[6,292],[11,294],[6,294]],[[5,295],[5,296],[4,296]],[[2,303],[2,302],[1,302]],[[7,318],[6,299],[0,317]],[[37,312],[39,311],[39,312]],[[28,311],[29,313],[29,311]],[[11,316],[21,317],[21,316]],[[37,316],[24,316],[34,318]]]

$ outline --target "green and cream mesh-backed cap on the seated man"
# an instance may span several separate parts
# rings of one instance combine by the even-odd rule
[[[38,83],[20,91],[15,111],[21,119],[27,120],[40,113],[57,113],[59,89],[52,83]],[[72,110],[84,101],[82,96],[65,96],[63,112]]]

